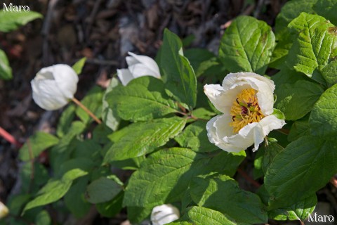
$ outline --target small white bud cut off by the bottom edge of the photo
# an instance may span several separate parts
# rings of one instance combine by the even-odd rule
[[[171,204],[156,206],[151,213],[152,225],[169,224],[179,217],[179,210]]]

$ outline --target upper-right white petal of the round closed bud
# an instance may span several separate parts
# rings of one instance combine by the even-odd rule
[[[77,82],[79,82],[77,73],[69,65],[65,64],[53,65],[51,68],[55,82],[62,91],[63,96],[68,99],[74,98]]]

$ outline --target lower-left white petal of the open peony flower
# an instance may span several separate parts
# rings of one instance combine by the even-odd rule
[[[227,152],[238,153],[244,148],[238,147],[235,144],[225,141],[227,136],[232,136],[232,127],[229,126],[230,116],[218,115],[213,117],[206,124],[207,136],[209,141]]]

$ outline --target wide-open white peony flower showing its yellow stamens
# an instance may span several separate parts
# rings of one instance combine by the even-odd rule
[[[230,73],[223,85],[206,84],[204,92],[223,115],[206,124],[209,141],[227,152],[239,152],[254,144],[253,151],[284,120],[272,115],[274,82],[253,72]]]

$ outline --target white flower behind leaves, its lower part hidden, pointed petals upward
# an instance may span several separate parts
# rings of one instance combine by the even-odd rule
[[[152,58],[148,56],[138,56],[132,52],[128,52],[128,54],[130,55],[126,56],[128,69],[117,70],[117,76],[121,80],[121,84],[126,86],[132,79],[143,76],[161,78],[159,67]]]

